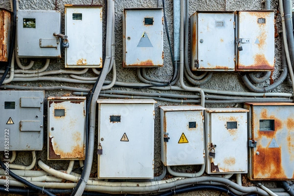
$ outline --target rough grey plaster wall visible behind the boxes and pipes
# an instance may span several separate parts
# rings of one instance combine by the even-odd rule
[[[94,0],[94,4],[103,5],[103,13],[105,13],[104,0]],[[62,31],[64,32],[64,4],[91,4],[91,0],[57,0],[57,10],[62,13]],[[10,0],[1,0],[0,7],[10,9]],[[169,32],[171,36],[171,41],[173,45],[173,11],[172,11],[172,0],[166,0],[166,16],[169,26]],[[122,68],[123,62],[123,8],[155,8],[162,7],[161,0],[115,0],[115,59],[117,65],[117,81],[123,82],[140,82],[137,77],[135,68]],[[197,10],[200,11],[229,11],[229,10],[260,10],[263,9],[264,5],[262,0],[190,0],[190,11],[189,15],[191,16]],[[32,10],[54,10],[55,9],[55,0],[20,0],[19,1],[20,9],[32,9]],[[272,0],[271,9],[278,10],[278,0]],[[276,26],[278,30],[281,30],[280,23],[280,15],[277,14]],[[103,40],[105,42],[105,17],[103,16]],[[280,74],[281,58],[280,58],[280,50],[282,47],[281,34],[276,37],[275,43],[275,71],[273,72],[273,79],[276,79]],[[103,49],[103,52],[105,50]],[[170,49],[168,47],[167,35],[164,29],[164,67],[162,68],[148,68],[147,73],[151,77],[155,78],[169,78],[172,75],[172,62],[171,62],[171,54]],[[27,60],[29,62],[30,59]],[[45,64],[45,59],[32,59],[36,63],[33,69],[41,68]],[[24,64],[24,60],[22,60]],[[64,50],[62,51],[62,58],[59,61],[56,59],[51,59],[48,70],[60,70],[64,69]],[[0,70],[3,70],[3,67],[0,67]],[[92,71],[88,71],[82,76],[96,76]],[[58,77],[69,77],[65,74],[60,74]],[[110,80],[112,78],[112,73],[107,76],[107,79]],[[185,81],[188,85],[188,82]],[[201,85],[201,88],[206,89],[216,89],[216,90],[229,90],[229,91],[248,91],[246,87],[242,84],[242,80],[238,73],[214,73],[213,77],[206,84]],[[266,81],[265,83],[260,84],[260,86],[266,86],[270,83],[270,81]],[[15,85],[26,85],[26,86],[73,86],[73,87],[81,87],[81,88],[91,88],[92,85],[88,84],[71,84],[71,83],[63,83],[57,81],[37,81],[37,82],[12,82]],[[176,84],[179,86],[179,83]],[[159,91],[152,89],[128,89],[128,88],[112,88],[114,90],[129,90],[129,91],[142,91],[149,93],[171,93],[171,94],[187,94],[193,95],[192,92],[175,92],[175,91]],[[102,91],[103,92],[103,91]],[[101,92],[101,93],[102,93]],[[291,83],[289,79],[286,79],[285,82],[273,90],[273,92],[292,92]],[[46,97],[49,96],[64,96],[69,95],[71,92],[56,90],[56,91],[46,91]],[[162,164],[160,160],[160,111],[159,105],[174,105],[175,103],[157,101],[155,106],[155,141],[154,141],[154,160],[155,160],[155,173],[161,173]],[[206,107],[242,107],[242,104],[206,104]],[[45,114],[47,111],[47,104],[45,104]],[[44,119],[45,127],[47,127],[47,116]],[[45,128],[45,137],[47,138],[47,128]],[[96,133],[97,137],[97,133]],[[95,142],[95,146],[97,146],[97,140]],[[48,164],[50,167],[58,170],[66,170],[68,167],[68,161],[47,161],[47,139],[45,139],[44,149],[43,151],[37,152],[37,158],[41,159],[44,163]],[[92,172],[97,172],[97,155],[94,156],[94,162],[92,167]],[[15,160],[15,164],[24,164],[29,165],[31,161],[31,153],[30,152],[18,152],[17,159]],[[78,167],[78,163],[76,162],[74,168]],[[177,171],[181,172],[197,172],[199,166],[190,166],[190,167],[178,167]],[[234,177],[234,176],[233,176]],[[274,183],[270,183],[270,186],[275,186]],[[219,192],[211,192],[211,191],[198,191],[189,194],[181,194],[182,196],[220,196]],[[225,194],[221,194],[225,195]]]

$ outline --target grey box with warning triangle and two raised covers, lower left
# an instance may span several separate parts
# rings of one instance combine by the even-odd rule
[[[42,150],[44,91],[0,91],[0,151]]]

